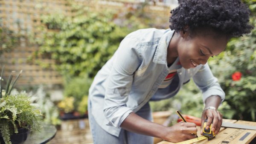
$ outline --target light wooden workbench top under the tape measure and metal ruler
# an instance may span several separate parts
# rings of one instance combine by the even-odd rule
[[[252,122],[252,121],[236,121],[236,120],[223,119],[223,122],[256,126],[256,122]],[[197,128],[198,128],[197,134],[198,134],[198,137],[200,137],[201,127],[197,126]],[[256,137],[256,130],[243,130],[243,129],[236,129],[236,128],[221,127],[219,134],[216,135],[215,138],[213,138],[212,140],[208,141],[207,139],[205,139],[202,141],[195,142],[193,144],[249,144],[251,141],[255,142],[255,140],[253,140],[253,138],[255,137]],[[157,144],[175,144],[175,143],[172,143],[169,141],[161,141],[160,143],[157,143]]]

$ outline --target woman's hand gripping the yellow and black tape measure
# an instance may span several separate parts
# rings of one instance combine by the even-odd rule
[[[206,129],[209,129],[209,126],[212,124],[212,131],[215,134],[218,134],[219,130],[221,129],[222,124],[222,114],[217,109],[206,109],[202,113],[201,117],[201,135],[203,134],[203,124],[204,120],[207,118],[207,127]]]

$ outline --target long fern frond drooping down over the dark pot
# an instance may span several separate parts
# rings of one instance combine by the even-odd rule
[[[12,144],[9,132],[9,124],[6,119],[2,119],[0,123],[0,131],[6,144]]]

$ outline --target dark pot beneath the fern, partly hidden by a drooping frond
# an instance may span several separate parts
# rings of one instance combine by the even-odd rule
[[[24,129],[24,128],[18,129],[18,133],[14,133],[13,135],[11,135],[12,144],[21,144],[24,141],[26,141],[28,133],[29,133],[29,131],[27,129]],[[5,144],[1,133],[0,133],[0,143]]]

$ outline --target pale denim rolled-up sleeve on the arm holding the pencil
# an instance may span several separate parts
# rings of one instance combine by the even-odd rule
[[[126,106],[131,91],[134,72],[140,66],[140,53],[137,40],[125,37],[114,54],[113,66],[107,80],[104,100],[104,114],[107,125],[119,128],[132,112]]]

